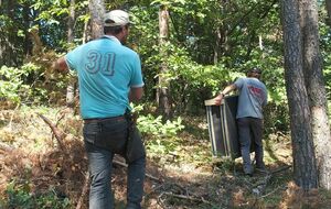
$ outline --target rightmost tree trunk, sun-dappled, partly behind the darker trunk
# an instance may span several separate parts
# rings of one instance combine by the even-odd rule
[[[319,47],[318,4],[316,0],[299,0],[299,9],[303,40],[303,70],[308,98],[310,98],[312,139],[316,145],[319,185],[325,189],[331,189],[331,136]]]

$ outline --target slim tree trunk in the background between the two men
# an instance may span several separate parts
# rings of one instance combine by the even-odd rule
[[[159,11],[159,28],[160,28],[160,57],[168,57],[166,44],[169,36],[169,12],[166,6],[160,7]],[[157,100],[159,105],[159,111],[164,119],[171,118],[171,101],[170,101],[170,85],[164,78],[168,72],[168,66],[164,61],[161,64],[161,70],[159,74],[159,88],[157,92]]]

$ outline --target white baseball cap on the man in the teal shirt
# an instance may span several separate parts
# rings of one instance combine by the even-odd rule
[[[122,10],[113,10],[104,16],[104,26],[118,26],[126,25],[128,23],[131,23],[129,14]]]

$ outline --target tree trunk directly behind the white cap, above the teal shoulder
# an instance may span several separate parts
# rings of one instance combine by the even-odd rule
[[[89,0],[88,8],[90,11],[92,38],[95,40],[104,35],[104,0]]]

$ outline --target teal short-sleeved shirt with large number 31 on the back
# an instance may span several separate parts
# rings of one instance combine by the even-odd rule
[[[83,119],[122,116],[130,88],[143,86],[139,55],[114,36],[81,45],[65,61],[78,75]]]

